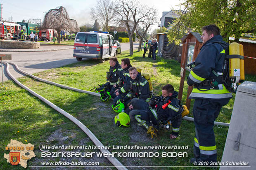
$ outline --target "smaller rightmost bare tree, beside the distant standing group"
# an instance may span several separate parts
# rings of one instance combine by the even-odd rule
[[[149,7],[146,6],[144,7],[144,9],[149,9]],[[149,27],[154,25],[158,21],[157,10],[154,8],[150,8],[149,11],[149,14],[147,14],[144,20],[140,23],[140,25],[143,26],[143,30],[139,29],[138,27],[136,28],[136,34],[140,38],[140,43],[137,51],[141,50],[142,40],[147,34],[147,30],[149,29]]]

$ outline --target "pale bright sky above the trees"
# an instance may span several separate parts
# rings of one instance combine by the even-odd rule
[[[93,24],[90,8],[95,7],[96,0],[0,0],[2,3],[2,19],[12,22],[21,22],[23,19],[42,19],[50,9],[63,6],[67,9],[70,19],[75,19],[79,26],[85,23]],[[180,0],[141,0],[142,5],[148,5],[158,10],[159,25],[162,12],[171,9],[180,9],[177,5]],[[151,27],[156,29],[158,24]]]

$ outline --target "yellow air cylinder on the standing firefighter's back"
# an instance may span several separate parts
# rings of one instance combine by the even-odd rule
[[[240,47],[237,42],[232,42],[229,45],[230,55],[240,55]],[[229,77],[232,80],[232,87],[234,90],[237,88],[237,83],[240,80],[240,59],[230,58],[229,59]]]

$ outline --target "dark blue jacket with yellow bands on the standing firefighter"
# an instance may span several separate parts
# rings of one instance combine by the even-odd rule
[[[223,41],[223,39],[220,35],[216,35],[201,47],[195,60],[195,67],[187,78],[188,85],[194,84],[189,98],[232,98],[232,93],[222,83],[225,50],[216,43],[219,41]],[[218,77],[213,71],[218,74]],[[215,80],[218,85],[213,86],[211,82]]]

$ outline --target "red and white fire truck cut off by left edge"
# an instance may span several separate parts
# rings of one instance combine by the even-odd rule
[[[0,38],[10,40],[15,33],[19,34],[23,29],[23,26],[17,23],[0,22]]]

